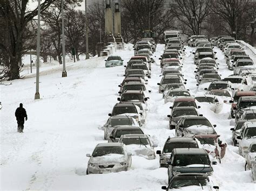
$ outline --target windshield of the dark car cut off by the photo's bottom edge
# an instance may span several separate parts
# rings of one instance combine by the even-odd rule
[[[181,188],[186,186],[207,186],[208,180],[201,176],[190,176],[175,178],[170,183],[170,188]]]

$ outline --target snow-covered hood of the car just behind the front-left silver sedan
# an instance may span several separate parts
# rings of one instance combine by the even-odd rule
[[[151,155],[154,154],[154,150],[150,145],[137,145],[137,144],[131,144],[126,145],[126,149],[128,152],[132,153],[132,155]]]

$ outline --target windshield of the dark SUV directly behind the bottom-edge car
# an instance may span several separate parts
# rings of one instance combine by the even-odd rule
[[[182,154],[176,155],[174,157],[173,166],[187,166],[187,165],[210,165],[210,161],[207,158],[207,155],[190,155],[190,154]]]

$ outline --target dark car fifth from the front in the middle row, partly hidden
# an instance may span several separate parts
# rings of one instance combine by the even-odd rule
[[[171,111],[171,115],[167,115],[167,117],[169,117],[170,129],[175,129],[179,119],[184,116],[199,116],[199,113],[195,107],[191,107],[191,106],[173,108]]]

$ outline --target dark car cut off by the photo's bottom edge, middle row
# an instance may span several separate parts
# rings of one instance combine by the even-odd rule
[[[212,176],[204,173],[183,173],[176,174],[171,179],[169,186],[162,186],[163,190],[219,190],[216,181]]]

